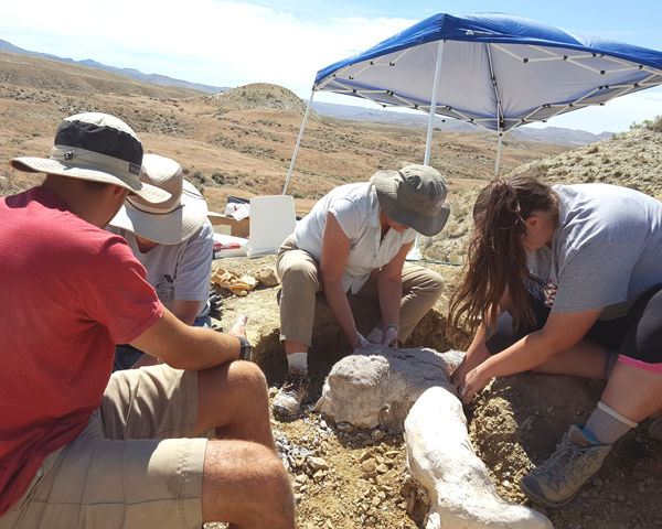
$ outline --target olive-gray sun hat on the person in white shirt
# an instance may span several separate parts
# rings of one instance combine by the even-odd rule
[[[448,220],[448,186],[429,165],[406,165],[399,171],[377,171],[371,182],[383,212],[421,235],[437,235]]]

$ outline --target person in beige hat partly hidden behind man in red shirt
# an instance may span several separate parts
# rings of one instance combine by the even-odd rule
[[[145,154],[140,181],[166,190],[171,198],[152,204],[129,195],[106,229],[126,239],[163,306],[188,325],[211,327],[207,298],[214,229],[206,202],[169,158]],[[118,345],[113,370],[154,363],[131,345]]]

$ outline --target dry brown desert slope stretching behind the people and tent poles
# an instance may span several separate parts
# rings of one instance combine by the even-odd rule
[[[209,95],[137,82],[97,68],[0,52],[0,156],[45,155],[62,118],[105,111],[124,119],[146,152],[177,159],[204,187],[212,208],[227,194],[250,197],[282,191],[305,104],[275,85],[255,84]],[[307,210],[331,187],[367,179],[378,169],[423,160],[425,131],[352,123],[312,115],[288,193]],[[563,152],[567,147],[506,138],[504,171]],[[431,164],[458,188],[493,174],[492,134],[437,132]],[[0,192],[39,177],[0,165]]]

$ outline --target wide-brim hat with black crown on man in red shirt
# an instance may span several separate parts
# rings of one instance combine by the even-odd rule
[[[166,191],[140,181],[142,143],[127,123],[108,114],[65,118],[50,158],[13,158],[9,164],[19,171],[119,185],[150,203],[170,199]]]

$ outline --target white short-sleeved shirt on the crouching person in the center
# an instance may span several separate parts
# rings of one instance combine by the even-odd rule
[[[371,182],[345,184],[319,199],[295,229],[297,248],[310,253],[318,262],[322,257],[322,239],[327,213],[331,212],[344,234],[352,241],[342,274],[342,287],[356,293],[370,273],[388,263],[403,245],[416,239],[412,228],[398,234],[389,229],[382,239],[380,203]]]

